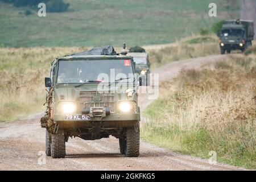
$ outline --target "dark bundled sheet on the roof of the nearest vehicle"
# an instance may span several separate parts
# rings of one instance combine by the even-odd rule
[[[74,53],[71,56],[87,56],[87,55],[117,55],[113,46],[95,47],[89,51]]]

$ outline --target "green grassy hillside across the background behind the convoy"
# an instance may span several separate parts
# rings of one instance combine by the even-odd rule
[[[199,32],[220,19],[238,17],[238,0],[109,0],[75,1],[65,13],[37,11],[0,2],[0,46],[149,45],[174,42]],[[209,3],[217,4],[217,17],[208,16]],[[239,18],[239,17],[238,17]]]

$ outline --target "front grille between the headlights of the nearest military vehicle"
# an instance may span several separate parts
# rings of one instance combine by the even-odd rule
[[[80,109],[90,107],[109,107],[110,112],[115,111],[114,94],[110,91],[80,91]]]

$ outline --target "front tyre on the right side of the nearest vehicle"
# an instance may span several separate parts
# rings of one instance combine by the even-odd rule
[[[139,122],[134,123],[133,127],[127,129],[126,132],[126,150],[125,156],[139,156]]]

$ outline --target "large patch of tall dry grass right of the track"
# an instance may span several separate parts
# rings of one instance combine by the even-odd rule
[[[142,137],[172,150],[256,168],[256,59],[230,55],[160,87]],[[157,109],[156,109],[157,108]],[[156,139],[157,138],[157,139]]]

